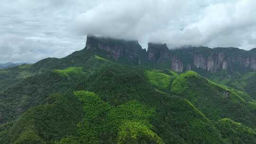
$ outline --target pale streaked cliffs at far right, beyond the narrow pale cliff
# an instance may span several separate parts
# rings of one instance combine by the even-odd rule
[[[207,56],[208,55],[208,56]],[[201,58],[201,61],[197,59]],[[208,72],[219,70],[253,69],[255,68],[256,55],[238,48],[213,48],[208,54],[196,55],[194,64]],[[204,65],[203,63],[207,63]]]

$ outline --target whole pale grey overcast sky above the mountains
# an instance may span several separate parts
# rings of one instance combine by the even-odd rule
[[[0,63],[84,48],[87,34],[209,47],[256,47],[256,0],[0,0]]]

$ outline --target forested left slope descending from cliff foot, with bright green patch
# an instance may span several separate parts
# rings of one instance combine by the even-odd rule
[[[0,92],[0,123],[13,120],[28,108],[39,105],[51,93],[75,89],[87,74],[108,63],[111,62],[93,55],[83,63],[84,67],[70,67],[63,71],[41,69],[46,72],[34,73],[34,76],[10,85]]]

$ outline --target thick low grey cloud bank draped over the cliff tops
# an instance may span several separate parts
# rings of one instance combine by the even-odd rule
[[[76,27],[96,34],[183,45],[256,45],[255,0],[108,0],[80,14]]]

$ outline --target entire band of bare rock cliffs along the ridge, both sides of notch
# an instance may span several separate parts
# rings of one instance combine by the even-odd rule
[[[256,48],[250,51],[234,47],[189,47],[169,50],[166,44],[148,43],[146,51],[138,41],[87,36],[86,49],[104,51],[117,61],[126,59],[135,64],[151,65],[165,63],[166,68],[175,72],[199,69],[206,72],[256,70]]]

